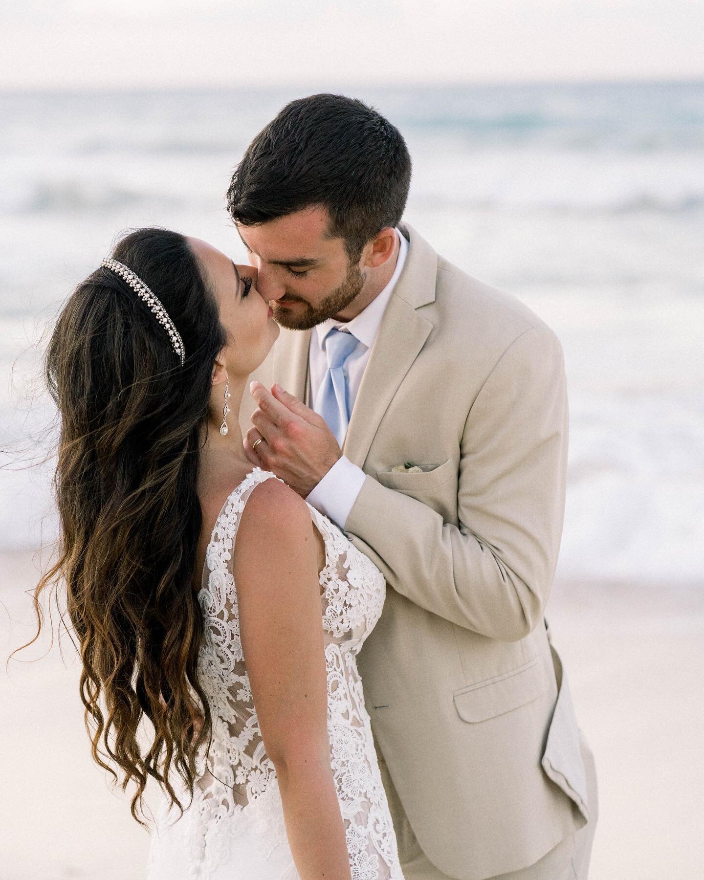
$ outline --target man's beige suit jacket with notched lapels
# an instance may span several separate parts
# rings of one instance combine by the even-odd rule
[[[564,510],[564,365],[517,298],[401,228],[407,262],[343,446],[367,474],[345,532],[388,584],[359,670],[423,852],[480,880],[536,862],[589,816],[543,616]],[[309,341],[282,329],[256,378],[305,400]],[[422,473],[392,473],[406,461]]]

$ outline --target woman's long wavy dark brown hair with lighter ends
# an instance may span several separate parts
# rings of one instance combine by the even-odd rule
[[[193,797],[195,755],[211,735],[196,674],[203,630],[194,590],[202,527],[196,480],[213,362],[226,337],[186,238],[140,229],[121,238],[112,256],[164,304],[186,363],[107,268],[79,283],[63,307],[46,355],[61,419],[61,533],[55,564],[34,590],[37,634],[29,644],[42,627],[41,594],[65,583],[92,757],[123,790],[136,783],[131,811],[144,824],[137,808],[144,815],[148,777],[183,810],[169,772]],[[144,715],[153,732],[141,747]]]

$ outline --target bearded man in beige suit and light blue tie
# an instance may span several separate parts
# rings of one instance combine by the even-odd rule
[[[560,342],[408,224],[400,132],[285,106],[228,209],[282,332],[240,413],[274,471],[384,572],[358,658],[407,880],[579,880],[593,758],[544,618],[560,547]]]

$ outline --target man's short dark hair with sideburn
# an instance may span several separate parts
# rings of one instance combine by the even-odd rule
[[[320,94],[291,101],[262,128],[232,175],[227,209],[256,226],[312,205],[330,215],[350,260],[399,224],[411,158],[398,128],[363,101]]]

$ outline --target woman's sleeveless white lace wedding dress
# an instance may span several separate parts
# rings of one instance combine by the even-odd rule
[[[239,641],[232,548],[253,488],[277,479],[259,467],[217,517],[198,600],[205,620],[198,674],[213,717],[213,740],[194,801],[182,818],[162,800],[147,880],[296,880],[275,768],[264,751]],[[310,504],[325,541],[320,572],[327,668],[330,761],[353,880],[403,880],[356,653],[381,614],[385,581],[341,530]],[[181,788],[178,790],[182,790]],[[185,801],[187,804],[187,794]]]

